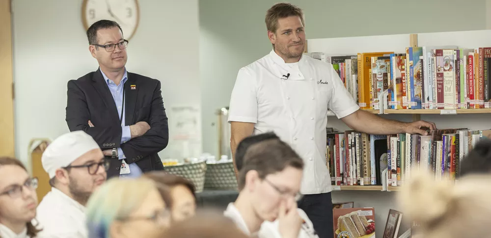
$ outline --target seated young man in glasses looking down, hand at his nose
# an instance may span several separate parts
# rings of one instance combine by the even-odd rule
[[[237,147],[239,197],[224,212],[247,235],[318,238],[297,208],[303,161],[274,133],[244,139]]]

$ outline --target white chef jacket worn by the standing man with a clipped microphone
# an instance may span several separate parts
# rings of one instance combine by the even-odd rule
[[[239,70],[229,107],[229,122],[255,123],[254,135],[273,131],[297,151],[305,163],[301,193],[332,190],[327,109],[344,118],[359,107],[331,64],[306,55],[287,64],[272,50]]]

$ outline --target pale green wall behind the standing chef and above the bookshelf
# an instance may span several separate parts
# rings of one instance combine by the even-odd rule
[[[278,1],[199,0],[203,151],[218,153],[214,111],[228,105],[237,71],[271,50],[264,16]],[[485,0],[290,2],[304,10],[307,39],[486,29]]]

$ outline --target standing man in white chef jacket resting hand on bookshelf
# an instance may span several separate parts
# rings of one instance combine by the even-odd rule
[[[327,110],[350,128],[369,134],[419,133],[434,123],[388,120],[356,105],[331,64],[303,55],[302,10],[289,3],[266,14],[273,50],[239,70],[230,99],[231,149],[252,134],[273,131],[305,162],[299,202],[320,238],[333,237],[331,180],[326,167]]]

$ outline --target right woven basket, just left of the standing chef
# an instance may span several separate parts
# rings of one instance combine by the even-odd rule
[[[208,162],[205,174],[205,189],[237,189],[234,164],[230,162]]]

